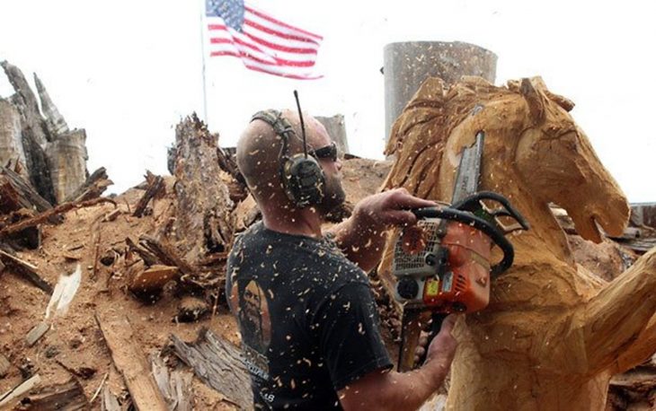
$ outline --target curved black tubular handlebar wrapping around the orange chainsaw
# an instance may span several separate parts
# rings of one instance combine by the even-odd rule
[[[512,266],[512,261],[515,258],[515,249],[512,248],[512,244],[510,244],[509,240],[506,240],[506,237],[498,228],[483,220],[483,218],[451,207],[415,208],[411,211],[418,219],[440,218],[449,221],[456,221],[458,223],[467,224],[490,237],[492,242],[503,251],[503,258],[501,258],[501,261],[491,268],[490,273],[492,276],[500,275]]]

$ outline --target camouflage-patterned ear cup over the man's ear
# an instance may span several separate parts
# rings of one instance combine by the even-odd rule
[[[313,157],[297,154],[287,158],[282,183],[289,199],[299,207],[317,206],[324,200],[324,170]]]

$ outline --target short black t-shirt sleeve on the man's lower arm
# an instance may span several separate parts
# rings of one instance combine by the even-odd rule
[[[336,391],[369,372],[392,368],[368,284],[342,285],[324,298],[314,317],[319,348]]]

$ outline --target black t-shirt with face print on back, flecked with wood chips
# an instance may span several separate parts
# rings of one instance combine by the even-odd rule
[[[337,390],[392,367],[368,277],[330,240],[254,224],[228,258],[226,295],[256,409],[339,409]]]

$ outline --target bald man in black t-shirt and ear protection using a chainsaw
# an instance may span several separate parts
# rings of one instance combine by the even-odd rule
[[[447,375],[453,319],[419,370],[390,371],[365,272],[379,261],[389,227],[412,226],[407,210],[435,204],[404,189],[379,193],[324,236],[324,216],[345,197],[341,162],[321,123],[304,118],[307,158],[292,111],[256,114],[237,144],[262,223],[235,241],[226,293],[240,319],[255,408],[416,409]]]

